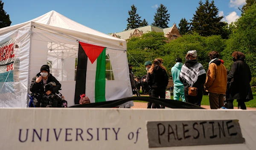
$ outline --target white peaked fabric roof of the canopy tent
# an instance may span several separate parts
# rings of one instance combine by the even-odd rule
[[[27,23],[30,23],[30,22],[41,23],[41,24],[51,25],[51,26],[69,29],[69,30],[73,30],[73,31],[84,32],[87,34],[93,34],[93,35],[96,35],[99,37],[105,37],[105,38],[113,39],[113,40],[121,40],[119,38],[111,37],[108,34],[104,34],[102,32],[93,30],[92,28],[88,28],[87,26],[81,25],[80,23],[77,23],[77,22],[67,18],[67,17],[63,16],[62,14],[59,14],[56,11],[50,11],[47,14],[44,14],[40,17],[37,17],[37,18],[27,21],[25,23],[20,23],[17,25],[12,25],[12,26],[6,27],[6,28],[1,28],[0,34],[20,28],[23,25],[26,25]],[[121,41],[124,41],[124,40],[121,40]]]

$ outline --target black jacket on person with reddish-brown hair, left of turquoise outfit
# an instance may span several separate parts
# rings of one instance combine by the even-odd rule
[[[152,74],[148,73],[146,82],[151,88],[165,89],[168,85],[169,78],[166,71],[160,66],[156,65],[153,69]]]

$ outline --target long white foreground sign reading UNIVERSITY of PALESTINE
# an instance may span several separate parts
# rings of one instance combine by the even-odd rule
[[[243,112],[0,109],[0,150],[253,150],[256,111]]]

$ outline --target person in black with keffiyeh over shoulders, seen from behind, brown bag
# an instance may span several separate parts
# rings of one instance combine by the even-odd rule
[[[206,72],[201,63],[197,61],[197,51],[188,51],[186,62],[180,71],[180,82],[184,85],[184,93],[186,102],[201,106],[203,98],[204,83]],[[197,96],[190,96],[189,87],[198,88]]]

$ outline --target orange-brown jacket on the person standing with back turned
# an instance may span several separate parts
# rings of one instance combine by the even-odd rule
[[[213,61],[208,68],[204,88],[207,92],[225,94],[227,89],[227,69],[220,60]]]

